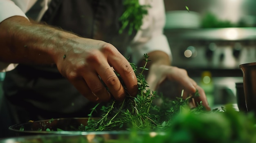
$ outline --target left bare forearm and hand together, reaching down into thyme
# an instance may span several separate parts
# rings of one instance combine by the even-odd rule
[[[13,16],[0,22],[0,60],[7,63],[56,64],[59,72],[90,101],[117,100],[137,94],[137,79],[126,58],[106,42],[79,37],[56,27]],[[100,79],[101,78],[101,79]]]

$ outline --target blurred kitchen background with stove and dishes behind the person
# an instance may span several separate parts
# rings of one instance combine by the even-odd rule
[[[236,83],[243,82],[239,65],[256,62],[256,0],[164,2],[173,66],[185,68],[204,88],[211,107],[235,104]],[[0,98],[3,79],[0,73]],[[171,84],[159,91],[172,94]]]

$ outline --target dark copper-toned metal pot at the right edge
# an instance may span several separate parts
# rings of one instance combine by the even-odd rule
[[[243,87],[245,94],[245,103],[248,112],[256,113],[256,62],[241,64],[240,69],[243,72]]]

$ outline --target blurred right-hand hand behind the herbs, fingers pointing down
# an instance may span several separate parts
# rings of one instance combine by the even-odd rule
[[[161,84],[165,79],[176,81],[184,89],[183,98],[192,96],[196,90],[198,90],[199,97],[195,97],[195,103],[190,103],[192,107],[197,106],[197,103],[202,101],[202,105],[207,109],[211,110],[207,102],[204,90],[196,84],[196,82],[191,79],[187,71],[182,68],[177,68],[175,66],[152,64],[149,68],[148,73],[148,86],[151,90],[155,90],[159,84]]]

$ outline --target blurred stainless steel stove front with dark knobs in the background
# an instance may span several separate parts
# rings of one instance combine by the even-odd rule
[[[165,35],[174,66],[239,71],[256,62],[256,28],[165,29]]]

